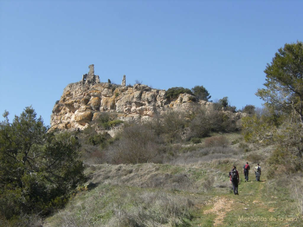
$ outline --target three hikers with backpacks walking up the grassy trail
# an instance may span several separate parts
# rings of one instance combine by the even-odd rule
[[[246,162],[243,166],[243,174],[244,174],[244,177],[245,177],[245,182],[248,182],[249,170],[250,170],[250,166],[248,165],[248,162]],[[259,166],[259,163],[255,167],[255,175],[256,175],[256,181],[260,181],[261,167]],[[231,172],[229,173],[229,177],[230,177],[229,183],[232,183],[234,194],[239,195],[239,193],[238,193],[238,183],[240,182],[240,177],[239,177],[239,172],[238,172],[236,166],[233,166]]]

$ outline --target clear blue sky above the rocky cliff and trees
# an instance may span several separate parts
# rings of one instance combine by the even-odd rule
[[[203,85],[217,101],[261,107],[266,64],[303,41],[296,0],[0,0],[0,120],[56,100],[95,65],[101,82]]]

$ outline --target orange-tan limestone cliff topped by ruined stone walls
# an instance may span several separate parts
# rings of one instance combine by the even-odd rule
[[[124,121],[145,120],[167,108],[185,108],[193,96],[181,94],[177,100],[166,99],[165,90],[152,89],[146,85],[122,85],[100,83],[94,75],[94,65],[89,66],[88,74],[77,83],[68,84],[56,102],[51,115],[51,130],[84,129],[104,112],[116,112]],[[201,101],[201,105],[212,103]]]

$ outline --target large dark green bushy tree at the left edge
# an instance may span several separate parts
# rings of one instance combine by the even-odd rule
[[[26,107],[12,123],[0,123],[0,214],[51,212],[83,179],[79,143],[68,133],[48,133],[41,117]],[[9,205],[8,205],[9,204]]]

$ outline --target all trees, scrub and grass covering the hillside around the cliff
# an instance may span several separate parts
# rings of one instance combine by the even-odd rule
[[[0,225],[303,226],[303,99],[284,87],[279,92],[288,94],[286,100],[274,103],[285,98],[274,88],[298,81],[295,87],[302,87],[303,67],[291,67],[302,53],[300,42],[279,50],[265,70],[268,90],[257,93],[272,100],[264,109],[246,105],[241,120],[232,117],[236,108],[228,97],[208,109],[193,101],[140,123],[102,113],[85,130],[58,134],[47,133],[31,107],[12,123],[6,112],[0,124]],[[284,76],[293,72],[292,80],[274,77],[287,67],[292,71]],[[209,99],[203,88],[192,94]],[[189,91],[174,88],[167,97]],[[117,125],[123,129],[113,138],[108,130]],[[246,161],[249,182],[242,175]],[[254,181],[257,163],[261,182]],[[233,165],[241,179],[238,196],[229,184]]]

